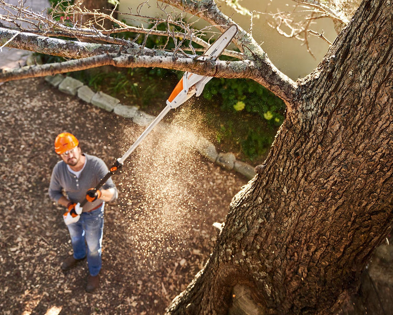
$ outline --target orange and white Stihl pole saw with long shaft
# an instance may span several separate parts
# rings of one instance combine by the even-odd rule
[[[224,51],[224,49],[229,45],[232,41],[233,37],[237,33],[237,26],[231,25],[223,34],[220,35],[219,38],[206,50],[206,52],[199,56],[198,60],[216,60]],[[113,163],[111,168],[109,169],[108,173],[100,180],[96,187],[93,189],[89,189],[86,193],[86,197],[89,196],[90,199],[96,195],[98,189],[100,189],[106,181],[115,174],[122,166],[124,161],[130,156],[130,154],[138,147],[140,142],[149,134],[149,132],[164,118],[164,116],[169,112],[170,109],[176,108],[187,101],[190,97],[194,94],[196,96],[201,95],[203,88],[205,87],[206,83],[209,82],[213,77],[207,77],[195,73],[185,72],[183,77],[175,86],[172,93],[169,95],[167,99],[167,106],[162,110],[162,112],[150,123],[149,126],[142,132],[139,138],[134,142],[134,144],[127,150],[126,153],[121,158],[116,159]],[[85,198],[84,201],[81,202],[80,208],[82,208],[86,203],[87,199]],[[71,211],[64,214],[64,221],[65,218],[69,218],[71,221],[78,221],[73,220],[77,219],[77,213],[75,212],[75,208]],[[72,217],[72,218],[70,218]],[[67,221],[66,221],[67,224]]]

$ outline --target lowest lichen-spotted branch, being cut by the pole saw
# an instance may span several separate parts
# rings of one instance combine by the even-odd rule
[[[138,56],[130,54],[102,54],[93,57],[71,60],[62,63],[50,63],[43,65],[25,66],[17,69],[3,70],[0,72],[0,82],[20,80],[32,77],[54,75],[98,67],[103,65],[113,65],[116,67],[160,67],[175,69],[180,71],[190,71],[193,73],[221,77],[221,78],[249,78],[281,97],[285,103],[292,101],[296,90],[296,83],[280,73],[275,73],[272,68],[260,68],[253,61],[204,61],[196,58],[173,58],[173,56]],[[269,76],[262,76],[261,73],[270,73]],[[291,107],[288,108],[291,111]]]

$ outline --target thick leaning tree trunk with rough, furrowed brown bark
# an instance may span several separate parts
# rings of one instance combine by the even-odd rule
[[[390,1],[364,1],[300,82],[269,157],[168,314],[329,314],[356,289],[392,227],[392,22]]]

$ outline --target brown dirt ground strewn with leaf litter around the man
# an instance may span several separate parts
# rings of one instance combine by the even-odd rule
[[[101,285],[89,294],[85,261],[60,270],[72,248],[64,209],[47,192],[58,160],[54,139],[72,132],[84,152],[110,166],[143,128],[29,79],[0,86],[0,129],[3,315],[162,314],[206,262],[217,235],[212,224],[225,220],[247,182],[176,134],[149,135],[113,175],[119,198],[106,205]]]

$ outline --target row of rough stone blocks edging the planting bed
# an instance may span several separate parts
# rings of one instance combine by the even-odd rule
[[[90,103],[108,112],[113,112],[116,115],[130,118],[139,126],[148,126],[155,118],[154,116],[140,111],[136,106],[121,104],[120,100],[111,95],[107,95],[103,92],[93,92],[81,81],[74,78],[56,74],[54,76],[46,76],[45,81],[58,88],[58,90],[63,93],[77,96],[86,103]],[[159,128],[159,132],[165,132],[165,123],[161,122],[159,126],[162,127]],[[204,137],[198,137],[194,147],[202,156],[211,162],[217,163],[225,169],[234,170],[244,175],[249,180],[256,174],[253,166],[236,160],[233,153],[218,153],[216,147]]]

